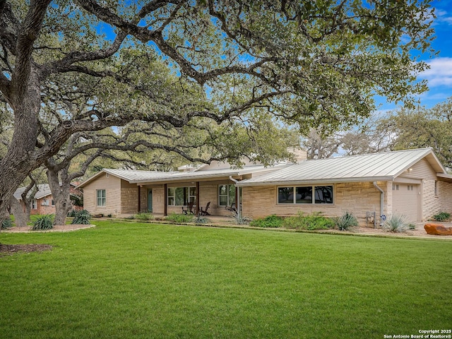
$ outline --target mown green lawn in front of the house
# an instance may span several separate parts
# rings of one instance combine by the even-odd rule
[[[383,338],[452,327],[452,242],[100,222],[6,234],[1,338]]]

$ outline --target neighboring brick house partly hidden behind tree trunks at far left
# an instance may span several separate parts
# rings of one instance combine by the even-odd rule
[[[31,210],[30,214],[55,214],[55,201],[50,191],[49,184],[37,185],[38,191],[35,194],[35,198],[30,201]],[[22,194],[25,191],[25,187],[19,187],[14,192],[14,197],[19,201],[20,206],[25,210],[25,205],[22,201]],[[71,184],[71,194],[80,195],[80,190],[76,189],[76,184]]]

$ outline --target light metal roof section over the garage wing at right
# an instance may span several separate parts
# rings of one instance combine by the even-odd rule
[[[273,184],[357,182],[393,180],[422,158],[427,157],[436,172],[446,170],[434,155],[432,148],[400,150],[306,160],[261,177],[246,179],[237,186],[261,186]]]

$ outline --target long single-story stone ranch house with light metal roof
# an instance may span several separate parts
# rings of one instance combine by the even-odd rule
[[[210,202],[213,215],[230,215],[225,207],[238,200],[242,214],[251,218],[348,211],[366,224],[374,213],[376,222],[393,213],[419,222],[439,211],[452,212],[452,175],[430,148],[274,167],[231,169],[213,162],[188,172],[103,169],[79,187],[85,209],[113,215],[181,213],[182,206],[196,201],[201,207]]]

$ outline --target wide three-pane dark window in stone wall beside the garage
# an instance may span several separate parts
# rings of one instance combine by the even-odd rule
[[[278,187],[278,203],[333,203],[333,186]]]

